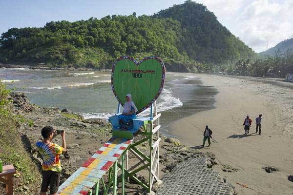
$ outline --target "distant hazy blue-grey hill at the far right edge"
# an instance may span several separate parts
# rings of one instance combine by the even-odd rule
[[[293,38],[283,40],[282,42],[279,42],[276,46],[264,52],[260,52],[259,54],[264,56],[274,56],[276,55],[276,53],[284,54],[288,50],[293,50]]]

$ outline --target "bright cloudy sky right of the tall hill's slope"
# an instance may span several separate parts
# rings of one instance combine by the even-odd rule
[[[256,52],[293,37],[293,0],[198,0]]]

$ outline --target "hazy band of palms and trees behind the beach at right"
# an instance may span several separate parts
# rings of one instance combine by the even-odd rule
[[[293,74],[293,50],[276,52],[275,56],[265,59],[239,60],[234,65],[222,66],[220,70],[230,75],[285,78]]]

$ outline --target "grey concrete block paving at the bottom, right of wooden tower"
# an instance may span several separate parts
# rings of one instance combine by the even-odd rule
[[[233,195],[219,173],[209,169],[206,158],[189,158],[162,178],[156,195]]]

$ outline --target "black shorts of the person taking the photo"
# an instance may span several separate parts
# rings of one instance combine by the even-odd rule
[[[59,188],[60,172],[42,171],[41,192],[47,192],[50,185],[50,194],[56,194]]]

